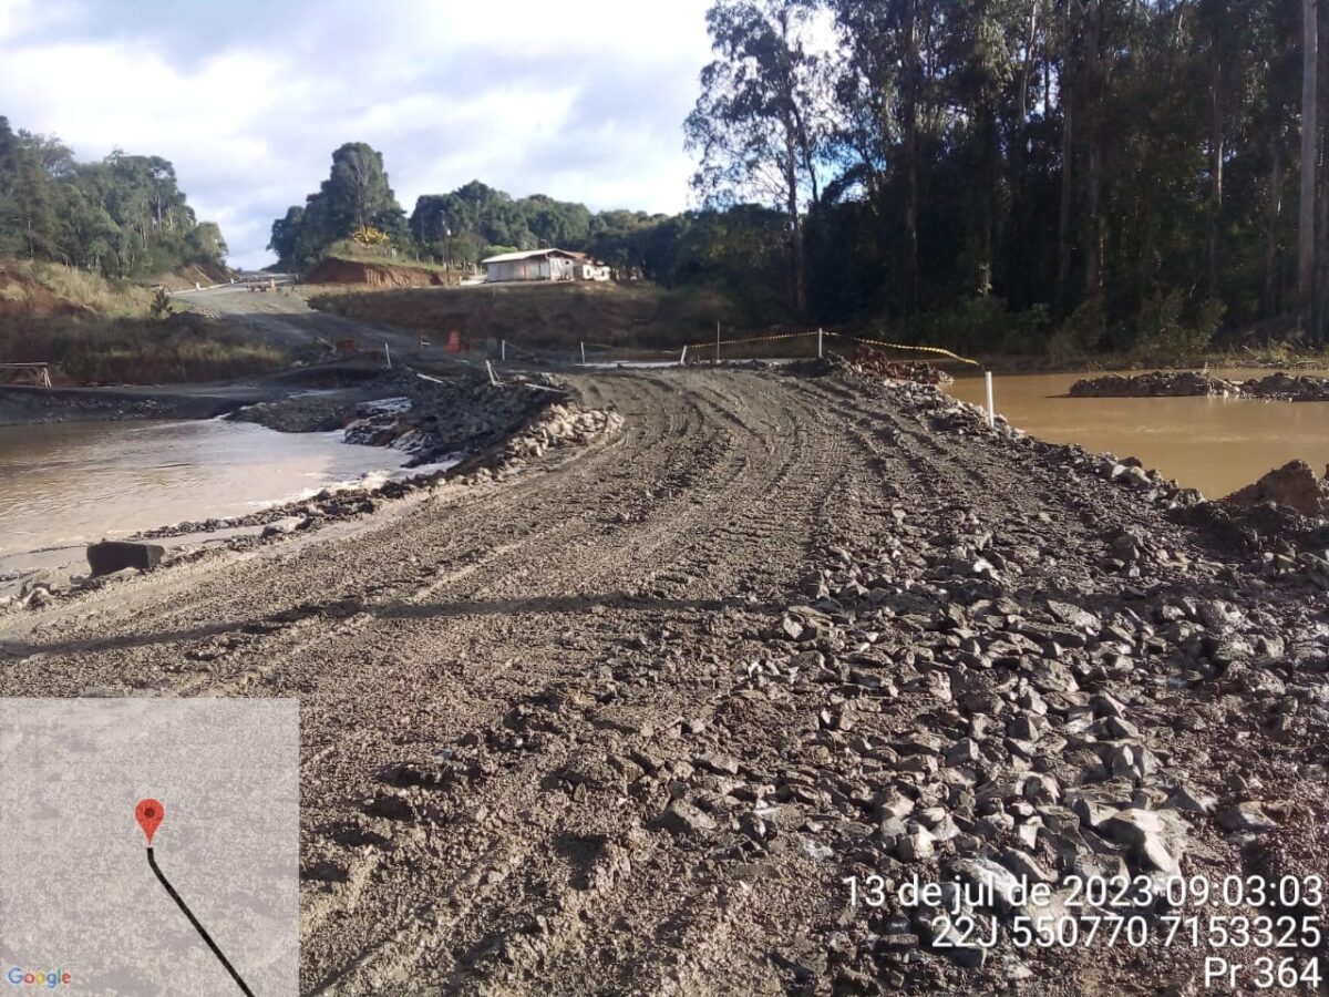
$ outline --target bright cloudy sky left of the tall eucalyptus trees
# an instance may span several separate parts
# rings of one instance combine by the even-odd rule
[[[80,160],[163,156],[231,263],[332,150],[384,154],[411,210],[482,179],[676,211],[708,0],[0,0],[0,114]]]

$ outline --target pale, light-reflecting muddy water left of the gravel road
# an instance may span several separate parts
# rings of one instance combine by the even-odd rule
[[[242,516],[407,460],[340,440],[221,420],[0,427],[0,560]]]

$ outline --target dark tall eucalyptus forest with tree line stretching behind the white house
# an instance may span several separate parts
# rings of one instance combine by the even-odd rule
[[[307,265],[356,226],[453,266],[562,246],[716,284],[758,322],[1034,352],[1322,340],[1316,8],[716,0],[683,126],[698,210],[591,213],[476,181],[407,218],[381,157],[348,145],[272,249]]]

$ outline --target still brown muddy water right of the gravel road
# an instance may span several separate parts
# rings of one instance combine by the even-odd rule
[[[1215,371],[1229,380],[1271,372]],[[997,412],[1041,440],[1139,457],[1146,467],[1211,498],[1231,495],[1289,460],[1304,460],[1320,473],[1329,463],[1329,403],[1066,397],[1076,380],[1103,374],[998,375]],[[1329,371],[1297,374],[1329,376]],[[982,378],[958,378],[949,391],[983,404]]]

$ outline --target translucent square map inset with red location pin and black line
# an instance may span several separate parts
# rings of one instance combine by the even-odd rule
[[[299,992],[296,701],[0,699],[0,780],[15,993]]]

